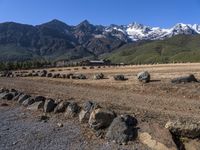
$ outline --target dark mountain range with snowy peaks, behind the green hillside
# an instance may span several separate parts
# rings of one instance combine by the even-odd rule
[[[134,49],[148,43],[164,42],[176,36],[199,35],[198,24],[178,23],[172,28],[162,29],[138,23],[93,25],[87,20],[76,26],[56,19],[36,26],[5,22],[0,23],[0,60],[71,61],[105,56],[112,59],[113,54],[124,51],[123,48],[126,49],[127,45],[129,49]]]

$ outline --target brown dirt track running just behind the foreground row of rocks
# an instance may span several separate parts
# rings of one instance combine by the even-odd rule
[[[183,95],[174,94],[173,90],[163,94],[166,89],[162,90],[158,86],[159,84],[151,83],[145,87],[140,86],[142,90],[132,90],[98,85],[94,87],[94,85],[74,84],[47,78],[0,78],[1,87],[16,88],[30,94],[43,95],[55,99],[73,97],[77,102],[94,100],[114,109],[118,113],[136,114],[142,120],[157,121],[163,125],[167,120],[174,118],[200,119],[199,99],[195,97],[187,98],[187,95],[183,97]],[[167,88],[169,87],[167,86]],[[147,92],[145,93],[145,91]]]

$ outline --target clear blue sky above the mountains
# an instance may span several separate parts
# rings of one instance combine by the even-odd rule
[[[70,25],[85,19],[102,25],[200,24],[200,0],[0,0],[0,22],[36,25],[52,19]]]

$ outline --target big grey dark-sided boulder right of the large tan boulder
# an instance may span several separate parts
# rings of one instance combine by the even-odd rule
[[[126,144],[137,137],[136,118],[125,115],[116,117],[108,128],[105,138],[118,144]]]

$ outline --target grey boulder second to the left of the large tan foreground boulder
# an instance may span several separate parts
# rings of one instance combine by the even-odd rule
[[[67,106],[65,117],[72,118],[75,117],[80,111],[80,107],[76,102],[70,102],[70,104]]]

